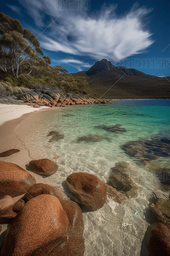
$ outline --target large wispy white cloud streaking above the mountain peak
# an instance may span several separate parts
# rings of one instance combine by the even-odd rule
[[[49,27],[48,34],[46,30],[39,38],[40,46],[49,51],[117,61],[139,54],[154,43],[143,22],[151,10],[137,4],[121,17],[117,16],[115,5],[104,5],[97,13],[87,11],[85,14],[84,11],[55,10],[53,0],[30,0],[24,7],[39,27],[48,26],[62,13]]]

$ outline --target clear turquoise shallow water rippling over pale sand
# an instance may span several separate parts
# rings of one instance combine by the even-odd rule
[[[108,199],[95,212],[83,212],[84,255],[148,255],[142,243],[149,222],[146,211],[152,191],[162,191],[160,181],[146,166],[129,157],[121,148],[126,142],[169,138],[170,100],[121,100],[118,104],[84,105],[52,109],[42,115],[35,113],[16,128],[33,159],[49,158],[58,164],[58,171],[45,178],[49,185],[61,185],[73,172],[87,172],[108,181],[116,162],[128,161],[131,178],[138,186],[138,195],[123,204]],[[99,125],[121,125],[126,132],[112,133],[98,129]],[[23,130],[24,127],[24,130]],[[64,135],[64,139],[49,142],[50,131]],[[95,134],[101,141],[77,139]],[[58,157],[59,156],[59,157]],[[58,157],[58,158],[57,158]],[[151,166],[169,167],[169,158],[159,157]]]

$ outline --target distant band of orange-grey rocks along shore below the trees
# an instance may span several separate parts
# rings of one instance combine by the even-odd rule
[[[27,103],[29,106],[40,107],[65,107],[68,105],[88,105],[88,104],[104,104],[111,103],[108,99],[83,99],[73,95],[61,97],[55,89],[45,89],[36,92],[29,92],[20,98],[20,102]]]

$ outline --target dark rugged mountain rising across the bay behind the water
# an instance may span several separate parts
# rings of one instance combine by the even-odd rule
[[[86,77],[98,97],[108,99],[169,99],[170,77],[147,75],[134,68],[115,67],[110,61],[97,61],[89,70],[72,73]]]

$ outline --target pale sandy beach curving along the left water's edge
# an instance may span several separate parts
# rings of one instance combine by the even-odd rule
[[[29,151],[24,147],[23,142],[16,136],[15,128],[25,119],[32,115],[32,118],[35,114],[43,114],[44,111],[60,109],[60,107],[49,108],[49,107],[40,107],[32,108],[27,105],[7,105],[0,104],[0,153],[9,150],[9,149],[19,149],[20,152],[13,154],[7,157],[1,157],[0,161],[10,162],[18,164],[24,170],[27,170],[25,165],[27,165],[32,158],[29,156]],[[37,183],[45,183],[45,179],[38,174],[32,173],[27,170],[37,181]],[[22,197],[14,197],[14,201],[18,201]],[[5,237],[7,228],[10,225],[1,224],[2,231],[0,233],[0,246]]]

